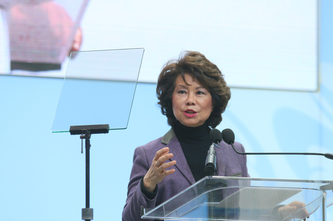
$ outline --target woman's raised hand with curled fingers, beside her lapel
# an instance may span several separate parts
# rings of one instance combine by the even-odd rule
[[[156,185],[160,183],[164,177],[175,173],[175,169],[165,170],[176,164],[175,160],[165,163],[165,161],[172,157],[173,154],[169,154],[169,148],[163,148],[156,152],[151,167],[143,177],[143,185],[145,189],[154,192]]]

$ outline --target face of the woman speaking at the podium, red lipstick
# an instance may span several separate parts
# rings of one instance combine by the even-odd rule
[[[185,84],[181,75],[176,79],[172,94],[172,109],[177,120],[188,127],[198,127],[209,118],[213,111],[212,95],[191,75],[185,74]]]

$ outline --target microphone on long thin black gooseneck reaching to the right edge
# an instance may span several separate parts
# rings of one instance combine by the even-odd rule
[[[227,144],[231,144],[234,151],[237,154],[241,154],[241,155],[319,155],[319,156],[324,156],[328,159],[333,160],[333,154],[330,154],[330,153],[326,153],[326,154],[321,154],[321,153],[240,153],[234,148],[235,134],[230,129],[224,129],[222,131],[222,139]]]

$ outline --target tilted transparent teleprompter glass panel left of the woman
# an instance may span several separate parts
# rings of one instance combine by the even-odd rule
[[[131,112],[143,48],[72,52],[52,132],[70,126],[125,129]]]

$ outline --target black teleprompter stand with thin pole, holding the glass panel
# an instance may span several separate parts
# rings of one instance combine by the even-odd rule
[[[109,129],[109,125],[71,126],[69,129],[71,135],[80,134],[82,141],[86,139],[86,208],[82,209],[82,220],[88,221],[94,218],[94,211],[90,208],[90,137],[92,134],[107,134]]]

